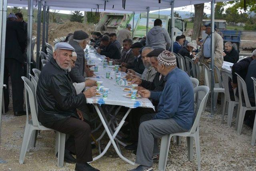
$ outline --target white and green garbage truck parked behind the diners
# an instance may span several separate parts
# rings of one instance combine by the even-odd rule
[[[146,35],[146,24],[147,24],[147,14],[138,13],[138,14],[120,14],[120,13],[104,13],[100,18],[100,21],[96,25],[96,31],[101,32],[102,34],[108,32],[118,32],[119,30],[126,27],[126,24],[131,24],[133,28],[133,18],[134,18],[134,33],[133,41],[137,42]],[[158,14],[149,14],[148,20],[148,30],[154,27],[154,20],[160,18],[162,20],[163,28],[168,30],[169,34],[171,32],[171,16],[158,15]],[[181,18],[174,18],[174,38],[180,36],[186,32],[186,21]],[[132,33],[132,29],[131,29]],[[191,38],[186,38],[191,42]]]

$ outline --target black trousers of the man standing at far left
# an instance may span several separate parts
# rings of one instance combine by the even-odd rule
[[[4,61],[4,84],[6,84],[6,89],[4,89],[4,106],[8,109],[9,106],[9,74],[11,76],[12,82],[12,105],[13,111],[22,111],[24,103],[24,82],[21,79],[24,76],[23,64],[15,59],[5,59]]]

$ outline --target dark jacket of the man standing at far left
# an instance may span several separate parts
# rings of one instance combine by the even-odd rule
[[[22,22],[6,22],[5,58],[12,58],[24,63],[26,32]]]

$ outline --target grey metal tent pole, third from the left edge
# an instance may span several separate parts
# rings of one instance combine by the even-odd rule
[[[36,36],[36,68],[40,68],[40,37],[41,37],[42,1],[38,1],[37,36]]]

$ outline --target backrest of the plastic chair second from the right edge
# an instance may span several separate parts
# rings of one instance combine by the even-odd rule
[[[240,77],[237,73],[235,73],[235,74],[236,74],[236,78],[237,78],[237,87],[238,87],[240,105],[242,105],[243,102],[245,102],[245,105],[246,105],[245,107],[252,107],[251,103],[249,101],[246,83],[244,82],[242,77]],[[243,101],[243,99],[244,99],[244,101]]]

